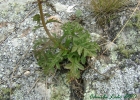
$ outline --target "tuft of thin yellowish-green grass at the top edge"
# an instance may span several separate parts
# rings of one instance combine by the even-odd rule
[[[127,4],[128,0],[91,0],[90,6],[96,16],[96,23],[104,28]]]

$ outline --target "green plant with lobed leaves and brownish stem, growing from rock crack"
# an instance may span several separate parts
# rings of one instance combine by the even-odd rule
[[[88,31],[77,22],[63,24],[63,35],[56,36],[54,33],[52,36],[46,27],[40,0],[38,0],[38,5],[40,17],[36,21],[42,21],[49,36],[48,39],[40,38],[34,42],[34,55],[38,64],[47,74],[66,69],[69,81],[80,78],[86,58],[96,55],[96,51],[99,50],[98,44],[91,42]]]

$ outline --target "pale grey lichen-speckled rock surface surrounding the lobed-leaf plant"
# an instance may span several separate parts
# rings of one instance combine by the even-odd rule
[[[95,19],[88,7],[83,6],[84,1],[51,2],[58,13],[45,5],[44,12],[57,16],[62,22],[66,22],[76,10],[81,9],[84,27],[91,32],[93,40],[100,39],[102,30],[95,27]],[[44,76],[32,53],[33,41],[45,35],[43,28],[32,31],[36,25],[32,17],[39,13],[37,3],[34,0],[0,0],[0,12],[0,100],[69,100],[70,90],[65,75],[55,80],[54,76]],[[121,24],[116,26],[116,33],[127,17],[118,19]],[[48,25],[50,30],[54,26]],[[140,94],[139,35],[139,29],[124,29],[116,43],[109,41],[106,45],[110,56],[102,56],[96,61],[93,58],[89,62],[91,69],[83,74],[84,100],[94,100],[95,94],[106,95],[106,100],[110,100],[113,94],[122,96],[118,99],[113,95],[113,100],[127,100],[124,98],[126,94]],[[110,78],[106,79],[94,69]]]

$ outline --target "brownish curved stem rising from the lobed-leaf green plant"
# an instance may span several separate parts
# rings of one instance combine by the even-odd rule
[[[44,20],[44,14],[43,14],[43,10],[42,10],[42,5],[41,5],[41,1],[40,0],[37,0],[38,1],[38,7],[39,7],[39,11],[40,11],[40,18],[41,18],[41,21],[42,21],[42,25],[46,31],[46,34],[49,36],[50,40],[54,43],[54,44],[57,44],[57,41],[55,40],[55,38],[50,34],[47,26],[46,26],[46,23],[45,23],[45,20]],[[65,48],[59,44],[58,47],[62,50],[65,50]]]

